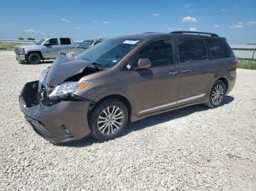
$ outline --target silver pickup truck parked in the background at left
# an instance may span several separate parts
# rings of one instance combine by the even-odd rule
[[[75,44],[72,38],[50,37],[41,39],[35,44],[24,44],[15,47],[16,60],[20,63],[39,63],[41,60],[55,59],[59,52],[72,52]]]

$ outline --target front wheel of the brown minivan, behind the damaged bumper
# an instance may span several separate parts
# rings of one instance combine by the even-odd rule
[[[108,99],[97,104],[89,117],[91,134],[99,141],[118,137],[127,127],[128,109],[118,99]]]

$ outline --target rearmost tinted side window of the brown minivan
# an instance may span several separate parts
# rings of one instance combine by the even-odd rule
[[[221,39],[207,39],[210,59],[229,58],[230,49]]]

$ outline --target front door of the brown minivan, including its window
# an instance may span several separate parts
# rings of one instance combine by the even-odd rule
[[[176,106],[178,71],[173,64],[173,48],[170,39],[151,42],[143,47],[134,59],[148,58],[151,68],[135,69],[134,98],[138,115],[157,112]]]

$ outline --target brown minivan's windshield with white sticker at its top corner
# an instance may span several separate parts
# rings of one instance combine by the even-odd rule
[[[107,39],[76,58],[93,61],[101,65],[102,69],[108,69],[115,66],[138,44],[140,44],[140,39]]]

